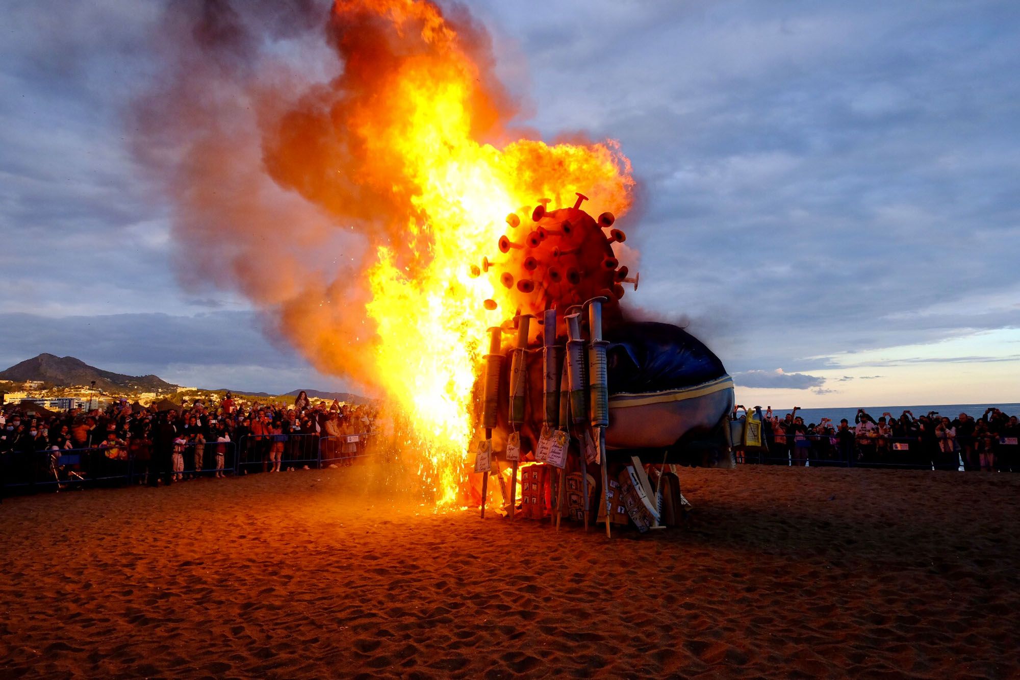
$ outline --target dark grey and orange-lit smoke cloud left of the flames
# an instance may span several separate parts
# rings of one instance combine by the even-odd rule
[[[367,148],[351,119],[374,112],[405,60],[452,49],[477,68],[473,134],[499,139],[513,113],[466,11],[446,16],[455,38],[426,40],[431,5],[408,5],[398,31],[375,4],[172,3],[154,36],[163,68],[132,111],[136,156],[170,199],[184,286],[241,292],[316,368],[366,383],[364,254],[388,243],[400,257],[415,215],[401,159]]]

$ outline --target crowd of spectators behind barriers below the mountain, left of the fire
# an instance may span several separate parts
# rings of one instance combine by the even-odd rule
[[[320,462],[349,466],[365,452],[377,419],[375,406],[312,403],[305,392],[293,404],[227,392],[162,410],[123,398],[88,411],[8,404],[0,411],[0,484],[130,476],[155,486]]]

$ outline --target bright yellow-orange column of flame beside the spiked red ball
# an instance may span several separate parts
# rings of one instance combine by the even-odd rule
[[[338,2],[343,16],[359,3]],[[614,143],[559,144],[521,140],[497,148],[472,138],[479,72],[458,46],[436,6],[365,2],[398,31],[420,31],[434,45],[396,65],[378,96],[355,111],[351,125],[364,140],[372,178],[409,188],[415,238],[409,257],[379,246],[368,268],[374,321],[372,373],[417,424],[427,442],[438,501],[452,503],[463,482],[472,436],[472,386],[484,351],[486,329],[513,315],[520,295],[471,278],[468,265],[498,255],[504,217],[548,196],[570,204],[583,190],[597,210],[624,212],[632,180]],[[495,299],[487,310],[481,302]]]

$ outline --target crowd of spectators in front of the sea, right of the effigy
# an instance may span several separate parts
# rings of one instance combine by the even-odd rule
[[[886,411],[876,419],[859,408],[853,423],[822,418],[805,424],[796,408],[780,418],[769,407],[760,418],[764,445],[743,452],[750,460],[1020,472],[1020,423],[999,408],[988,408],[977,419],[935,411],[915,416],[909,410],[899,417]]]

